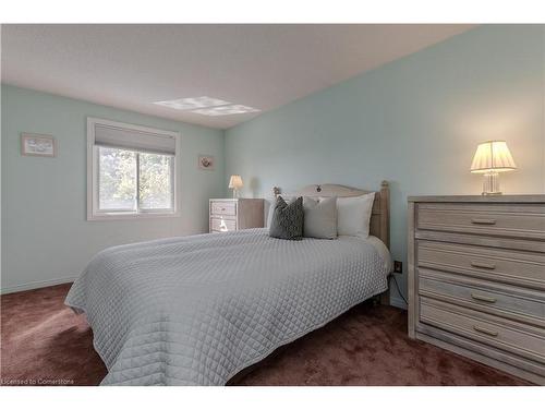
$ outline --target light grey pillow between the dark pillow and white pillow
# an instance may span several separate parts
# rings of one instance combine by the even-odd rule
[[[337,197],[303,197],[303,236],[315,239],[337,238]]]

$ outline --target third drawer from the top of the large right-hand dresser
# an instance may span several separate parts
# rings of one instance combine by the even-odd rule
[[[545,293],[471,277],[420,270],[419,293],[506,318],[545,327]]]

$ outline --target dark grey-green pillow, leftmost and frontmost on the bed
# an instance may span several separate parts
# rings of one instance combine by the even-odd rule
[[[269,236],[277,239],[302,240],[303,218],[303,197],[286,203],[282,196],[278,196],[272,210]]]

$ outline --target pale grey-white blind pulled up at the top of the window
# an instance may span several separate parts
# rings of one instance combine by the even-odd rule
[[[101,123],[95,123],[94,125],[95,145],[161,155],[175,154],[175,139],[171,135]]]

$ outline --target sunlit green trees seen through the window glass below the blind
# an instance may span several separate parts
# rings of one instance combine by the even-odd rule
[[[172,156],[98,146],[100,212],[172,210]]]

